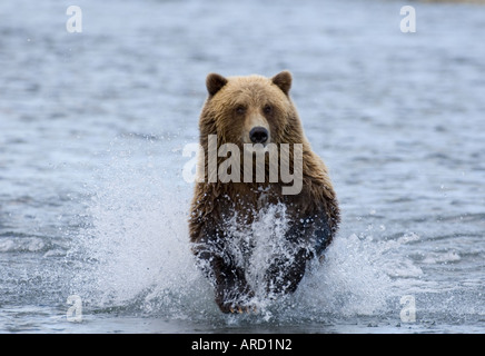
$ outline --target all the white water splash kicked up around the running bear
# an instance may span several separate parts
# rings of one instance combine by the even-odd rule
[[[403,278],[415,281],[423,274],[402,253],[419,239],[416,235],[374,240],[340,234],[323,263],[309,264],[296,293],[268,298],[261,287],[264,270],[275,254],[284,253],[285,245],[278,241],[288,227],[285,207],[268,207],[246,230],[231,231],[235,251],[253,244],[253,253],[239,258],[246,259],[247,278],[256,286],[258,309],[235,319],[218,310],[214,290],[191,255],[187,224],[191,189],[167,181],[174,179],[164,179],[150,165],[132,167],[131,160],[118,159],[92,186],[87,211],[91,224],[72,239],[67,257],[75,265],[70,293],[79,295],[88,309],[215,324],[326,322],[388,313],[395,308],[389,304],[409,286]]]

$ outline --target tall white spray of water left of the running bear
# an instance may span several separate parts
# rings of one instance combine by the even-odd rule
[[[92,225],[69,254],[80,264],[71,293],[101,308],[136,304],[151,310],[158,303],[172,309],[186,303],[180,299],[200,278],[189,248],[188,199],[164,178],[152,166],[119,159],[90,187]]]

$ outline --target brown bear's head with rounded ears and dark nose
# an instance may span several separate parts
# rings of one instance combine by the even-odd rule
[[[291,75],[222,77],[210,73],[200,116],[201,141],[217,135],[218,145],[300,144],[303,129],[289,97]]]

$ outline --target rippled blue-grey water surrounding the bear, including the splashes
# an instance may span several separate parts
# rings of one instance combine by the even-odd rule
[[[413,2],[402,33],[398,1],[78,1],[69,33],[70,4],[0,4],[0,333],[485,332],[485,8]],[[283,69],[342,228],[295,295],[222,315],[182,149],[208,72]]]

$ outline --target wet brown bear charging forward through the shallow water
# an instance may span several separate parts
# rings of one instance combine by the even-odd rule
[[[326,166],[304,135],[289,97],[291,80],[289,71],[273,78],[207,76],[208,98],[199,119],[204,154],[198,161],[199,179],[191,202],[189,233],[198,265],[210,279],[216,303],[224,313],[254,308],[255,288],[259,287],[248,283],[241,261],[250,254],[251,243],[241,247],[244,254],[235,253],[234,235],[235,231],[247,231],[247,226],[258,219],[259,210],[284,205],[289,221],[284,236],[278,237],[287,250],[268,256],[270,263],[261,271],[265,290],[271,298],[296,290],[307,261],[321,256],[337,231],[339,208],[336,195]],[[225,145],[232,145],[227,146],[232,158],[230,167],[227,165],[228,149],[220,150]],[[251,160],[249,168],[254,169],[249,170],[248,162],[242,160],[254,158],[257,151],[247,155],[248,145],[264,151],[263,161]],[[269,149],[265,152],[267,147],[277,152],[280,150],[280,156],[274,160],[269,157]],[[298,165],[295,164],[297,156]],[[232,165],[238,160],[241,161],[240,168]],[[287,189],[285,194],[288,179],[283,179],[283,170],[280,174],[278,169],[271,171],[269,166],[275,161],[278,167],[286,164],[294,172],[293,177],[301,180],[294,182],[294,191]],[[221,172],[226,174],[222,175],[225,178]],[[244,180],[235,179],[240,178],[241,172],[245,174]],[[257,172],[261,176],[257,177]]]

